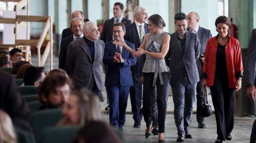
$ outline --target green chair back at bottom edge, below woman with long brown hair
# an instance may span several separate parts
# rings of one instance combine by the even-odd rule
[[[51,127],[40,134],[39,143],[72,143],[81,126]]]

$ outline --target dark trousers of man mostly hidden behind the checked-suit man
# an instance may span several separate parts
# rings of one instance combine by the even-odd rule
[[[200,81],[197,82],[196,84],[196,121],[199,123],[199,122],[204,122],[204,117],[201,116],[201,112],[200,112],[200,109],[204,100],[204,88],[202,87],[203,62],[201,61],[201,59],[197,60],[196,65],[197,65],[197,70],[200,78]]]

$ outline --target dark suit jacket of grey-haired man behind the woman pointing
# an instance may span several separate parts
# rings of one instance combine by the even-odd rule
[[[148,24],[145,23],[144,27],[145,27],[145,33],[148,33],[149,32]],[[136,51],[138,50],[138,48],[141,45],[141,41],[140,41],[140,36],[139,36],[135,22],[133,22],[132,24],[126,27],[126,33],[125,33],[124,39],[133,43],[135,45],[135,50]],[[141,56],[141,58],[137,58],[137,63],[131,67],[132,73],[140,72],[140,74],[142,75],[142,68],[145,63],[145,57],[146,56],[143,55]],[[143,63],[140,63],[140,62],[143,62]]]

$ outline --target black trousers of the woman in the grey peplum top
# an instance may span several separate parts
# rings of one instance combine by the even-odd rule
[[[155,73],[143,73],[144,85],[143,85],[143,96],[142,96],[142,114],[146,122],[147,127],[151,125],[151,101],[153,98],[155,86],[153,85]],[[162,72],[164,84],[161,85],[159,75],[157,75],[156,88],[157,88],[157,108],[158,108],[158,131],[159,133],[164,132],[165,128],[165,116],[166,116],[166,88],[169,83],[169,73]]]

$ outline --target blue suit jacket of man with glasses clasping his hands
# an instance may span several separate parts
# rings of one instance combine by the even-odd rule
[[[106,73],[105,86],[133,86],[131,66],[135,65],[137,58],[123,47],[121,56],[124,63],[115,63],[113,58],[116,51],[116,45],[109,41],[105,44],[103,63],[108,65]],[[135,49],[134,44],[125,40],[125,43]]]

